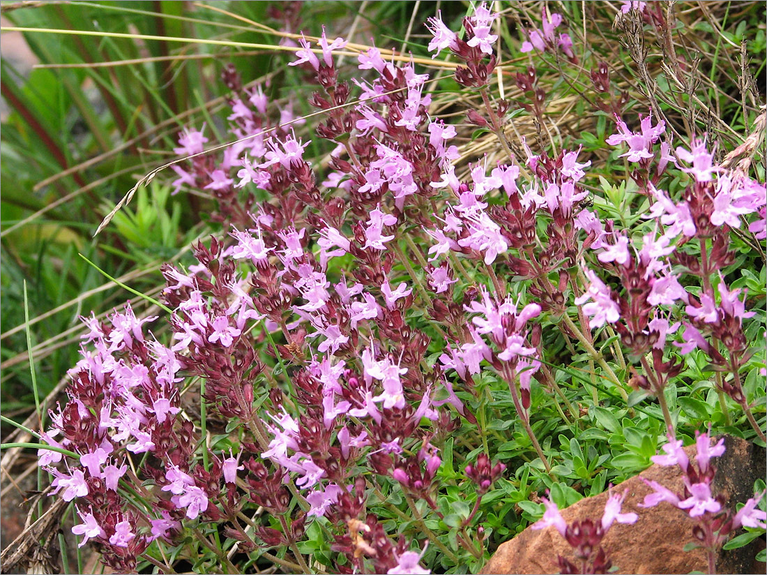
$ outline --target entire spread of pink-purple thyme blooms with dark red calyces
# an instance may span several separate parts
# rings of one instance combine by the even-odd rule
[[[290,8],[280,15],[296,29]],[[497,18],[479,4],[463,19],[462,37],[441,15],[430,18],[429,49],[456,55],[456,81],[478,88],[485,104],[469,123],[508,144],[512,104],[493,104],[487,93]],[[575,61],[569,36],[555,32],[561,24],[561,15],[544,12],[523,51],[561,50]],[[275,110],[261,86],[242,88],[233,68],[224,81],[235,144],[216,158],[202,153],[204,128],[179,135],[176,153],[189,158],[173,167],[176,192],[209,194],[223,231],[193,246],[192,266],[162,266],[163,302],[173,310],[168,346],[146,332],[157,318],[137,318],[130,306],[109,322],[84,320],[71,401],[51,413],[43,435],[77,458],[41,449],[40,465],[54,493],[75,501],[81,544],[97,541],[115,570],[136,570],[150,545],[189,534],[210,544],[205,527],[214,524],[216,537],[246,552],[289,549],[287,559],[272,556],[286,568],[307,568],[298,543],[311,528],[329,542],[339,573],[428,573],[420,565],[428,542],[400,537],[377,504],[384,491],[397,493],[424,534],[427,523],[446,524],[440,478],[453,470],[443,468],[443,445],[458,429],[485,432],[473,411],[486,407],[478,382],[490,378],[508,385],[518,422],[553,476],[532,426],[533,381],[557,386],[546,337],[581,345],[610,375],[595,346],[598,330],[614,327],[632,385],[662,406],[663,388],[683,368],[668,345],[676,337],[683,352],[700,349],[732,374],[720,391],[750,414],[739,373],[752,356],[742,329],[752,312],[742,289],[712,277],[732,263],[732,228],[756,214],[750,226],[763,233],[764,184],[717,166],[703,140],[672,156],[665,124],[649,114],[637,128],[616,114],[607,143],[628,147],[621,157],[629,176],[652,200],[643,234],[621,230],[589,207],[583,150],[549,156],[523,141],[525,166],[509,154],[509,162],[459,167],[456,126],[430,115],[429,74],[369,48],[358,54],[353,87],[334,61],[352,46],[324,31],[316,41],[301,35],[290,62],[316,87],[308,103],[323,112],[316,134],[331,143],[326,170],[309,159],[311,141],[291,106]],[[542,117],[535,68],[516,78],[534,94],[529,111]],[[606,66],[592,80],[607,91]],[[660,189],[673,167],[689,174],[679,201]],[[257,202],[254,190],[270,200]],[[206,418],[226,424],[215,450],[193,423],[194,404],[181,401],[182,389],[193,395],[201,381]],[[625,393],[614,374],[611,381]],[[681,465],[680,444],[669,445],[663,462]],[[706,457],[720,448],[702,446],[689,494],[659,487],[656,495],[696,517],[720,511],[706,496]],[[460,478],[476,504],[452,533],[475,558],[481,533],[472,520],[505,471],[487,446],[479,451]],[[563,572],[607,572],[604,533],[637,520],[621,514],[624,497],[609,497],[601,521],[570,526],[545,501],[536,528],[555,525],[579,562],[560,558]],[[735,517],[732,529],[764,522],[754,505]]]

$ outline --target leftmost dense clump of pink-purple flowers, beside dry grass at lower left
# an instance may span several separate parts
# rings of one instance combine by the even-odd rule
[[[206,491],[179,468],[189,471],[193,430],[191,422],[179,425],[176,420],[181,362],[171,349],[144,335],[143,324],[155,319],[138,319],[128,305],[108,323],[94,316],[84,319],[89,331],[83,339],[94,351],[83,348],[83,359],[70,372],[70,401],[51,411],[53,425],[43,434],[47,444],[73,451],[79,461],[48,450],[41,450],[38,460],[54,476],[52,493],[77,501],[82,523],[73,533],[84,536],[80,545],[97,540],[104,562],[123,571],[135,570],[137,557],[153,540],[169,537],[185,514],[196,517],[208,504]],[[152,454],[156,476],[163,462],[176,470],[176,477],[183,476],[178,493],[186,495],[184,501],[157,501],[150,510],[128,504],[119,487],[123,481],[135,485],[129,468],[133,457],[142,454]],[[57,465],[62,463],[63,468]],[[144,471],[150,472],[150,466]]]

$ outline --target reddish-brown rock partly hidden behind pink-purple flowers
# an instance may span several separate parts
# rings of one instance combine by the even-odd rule
[[[753,484],[765,477],[765,452],[748,441],[726,438],[727,450],[717,464],[715,494],[726,497],[728,505],[753,496]],[[688,456],[695,455],[695,446],[686,448]],[[703,550],[689,552],[684,546],[693,542],[692,527],[696,521],[686,513],[661,503],[657,507],[637,507],[644,496],[652,491],[640,479],[657,481],[681,493],[683,482],[680,469],[653,465],[640,475],[627,479],[616,487],[616,492],[628,487],[623,512],[634,511],[639,515],[637,524],[613,524],[602,541],[604,550],[611,558],[618,573],[690,573],[693,570],[706,573],[707,562]],[[607,501],[607,493],[586,497],[562,510],[562,517],[569,523],[575,520],[600,520]],[[759,543],[741,550],[720,552],[717,561],[719,573],[764,573],[765,564],[754,563]],[[558,573],[557,556],[571,559],[571,547],[554,527],[544,530],[528,529],[512,540],[502,544],[482,573]]]

